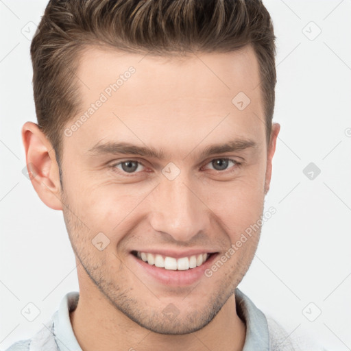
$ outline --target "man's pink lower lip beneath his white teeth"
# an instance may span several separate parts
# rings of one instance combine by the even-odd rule
[[[201,266],[190,268],[184,271],[173,271],[171,269],[165,269],[156,267],[155,265],[149,265],[142,261],[141,259],[134,256],[134,254],[130,254],[134,261],[145,271],[149,276],[152,276],[155,280],[162,283],[162,285],[167,285],[169,287],[179,287],[192,285],[197,282],[202,276],[204,276],[204,272],[208,269],[218,254],[212,254],[207,261]]]

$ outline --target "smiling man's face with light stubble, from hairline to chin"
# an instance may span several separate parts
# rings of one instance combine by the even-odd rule
[[[267,144],[254,51],[166,59],[90,48],[77,77],[82,101],[66,124],[62,202],[81,296],[106,298],[154,332],[199,330],[234,293],[260,234],[205,274],[263,214]],[[242,93],[232,102],[240,92],[247,106]],[[123,154],[117,143],[162,155]],[[156,267],[141,252],[168,268],[194,265],[191,256],[199,266]],[[211,255],[201,265],[199,254]]]

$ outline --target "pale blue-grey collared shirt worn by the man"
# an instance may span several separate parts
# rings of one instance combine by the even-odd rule
[[[235,291],[237,313],[246,324],[243,351],[323,351],[306,340],[293,340],[274,319],[266,317],[239,289]],[[66,293],[58,311],[31,339],[17,341],[6,351],[82,351],[75,338],[69,312],[77,307],[79,293]]]

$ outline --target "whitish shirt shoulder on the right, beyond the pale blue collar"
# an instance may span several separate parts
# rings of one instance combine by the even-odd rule
[[[266,315],[266,319],[270,351],[326,351],[326,349],[306,335],[306,332],[296,328],[289,334],[276,319],[269,315]]]

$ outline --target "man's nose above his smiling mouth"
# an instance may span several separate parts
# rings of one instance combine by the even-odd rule
[[[152,228],[169,234],[175,241],[191,241],[198,233],[208,232],[210,210],[202,200],[199,186],[186,177],[162,179],[149,204]]]

